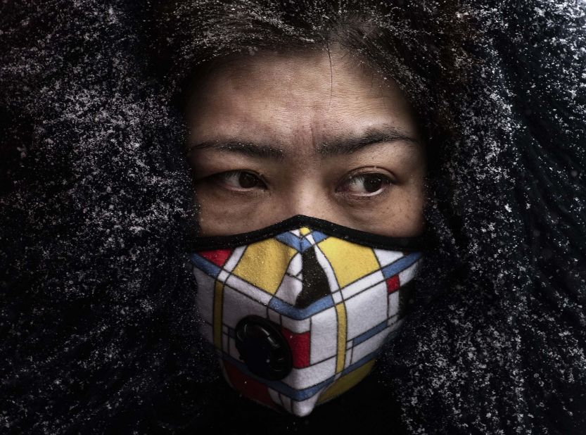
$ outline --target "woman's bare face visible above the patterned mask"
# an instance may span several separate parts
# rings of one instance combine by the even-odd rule
[[[215,68],[188,105],[202,235],[308,215],[375,234],[423,229],[425,156],[390,78],[342,51]]]

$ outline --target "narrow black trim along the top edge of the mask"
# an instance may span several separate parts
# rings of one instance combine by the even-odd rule
[[[369,246],[370,248],[387,249],[389,251],[423,251],[427,243],[424,237],[388,237],[373,234],[370,232],[359,231],[342,225],[334,224],[327,220],[318,219],[305,215],[295,215],[274,225],[269,225],[262,229],[233,234],[230,236],[209,236],[193,237],[188,246],[190,251],[205,251],[208,249],[219,248],[237,248],[252,244],[255,241],[271,239],[278,234],[298,229],[300,227],[310,227],[317,231],[324,232],[328,236],[338,237],[356,244]]]

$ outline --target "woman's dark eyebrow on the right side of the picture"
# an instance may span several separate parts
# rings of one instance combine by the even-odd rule
[[[352,154],[364,147],[380,144],[381,142],[404,141],[409,145],[421,144],[414,137],[407,136],[395,127],[386,126],[369,128],[360,137],[341,137],[330,142],[324,142],[317,146],[317,153],[321,157],[340,156]]]

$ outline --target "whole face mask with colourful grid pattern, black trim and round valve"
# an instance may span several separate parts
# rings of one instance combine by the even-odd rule
[[[202,332],[227,382],[298,416],[370,372],[402,323],[422,246],[307,216],[193,243]]]

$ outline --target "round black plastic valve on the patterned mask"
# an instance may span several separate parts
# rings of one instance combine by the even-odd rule
[[[293,368],[291,349],[279,326],[257,315],[244,317],[236,324],[236,348],[250,372],[276,381]]]

